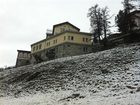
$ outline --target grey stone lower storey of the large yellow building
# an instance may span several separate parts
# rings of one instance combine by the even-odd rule
[[[61,45],[33,53],[31,57],[32,63],[40,63],[42,61],[52,60],[56,58],[87,54],[92,52],[91,45],[81,45],[73,43],[63,43]]]

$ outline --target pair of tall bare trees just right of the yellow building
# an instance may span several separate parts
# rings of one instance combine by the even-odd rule
[[[102,39],[104,38],[106,42],[110,24],[108,7],[100,8],[98,4],[96,4],[89,9],[88,17],[90,18],[94,42],[101,42],[101,37]]]

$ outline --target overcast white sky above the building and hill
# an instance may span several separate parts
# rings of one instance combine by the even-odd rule
[[[122,0],[0,0],[0,67],[14,66],[17,49],[45,38],[46,29],[69,21],[90,32],[88,9],[98,3],[117,14]]]

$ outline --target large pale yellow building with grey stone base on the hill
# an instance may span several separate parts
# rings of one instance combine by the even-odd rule
[[[69,22],[56,24],[45,39],[31,45],[31,62],[90,53],[91,36]]]

